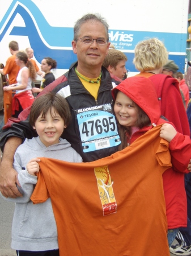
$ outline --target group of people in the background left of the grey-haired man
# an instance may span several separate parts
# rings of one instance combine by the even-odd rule
[[[7,59],[5,67],[0,69],[2,76],[9,76],[9,85],[3,86],[3,123],[7,123],[9,118],[18,119],[23,109],[32,105],[37,93],[55,80],[50,70],[55,69],[57,65],[56,60],[45,57],[41,62],[40,71],[36,61],[32,59],[34,56],[32,48],[19,51],[16,41],[11,41],[9,48],[12,56]],[[35,87],[36,75],[41,76],[40,88]]]

